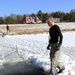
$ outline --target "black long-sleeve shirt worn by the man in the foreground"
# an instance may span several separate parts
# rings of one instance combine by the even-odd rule
[[[50,43],[56,43],[59,42],[60,44],[62,44],[62,40],[63,40],[63,35],[60,31],[59,26],[54,25],[49,29],[49,35],[50,35]]]

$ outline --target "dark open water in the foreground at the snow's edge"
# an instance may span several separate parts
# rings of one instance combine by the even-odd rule
[[[42,68],[33,66],[26,61],[5,63],[0,67],[2,67],[0,68],[0,75],[47,75]]]

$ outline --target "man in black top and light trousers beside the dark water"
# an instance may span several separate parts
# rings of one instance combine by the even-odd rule
[[[63,35],[60,31],[60,27],[54,24],[54,18],[50,17],[48,19],[48,26],[51,26],[49,29],[49,44],[47,49],[50,50],[50,60],[51,60],[51,69],[50,75],[55,75],[56,68],[59,69],[58,73],[62,73],[65,69],[64,66],[58,62],[60,55],[60,47],[62,45]]]

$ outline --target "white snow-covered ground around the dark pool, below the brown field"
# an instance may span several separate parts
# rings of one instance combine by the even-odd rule
[[[46,49],[48,35],[43,33],[0,36],[0,69],[5,62],[28,60],[48,72],[50,70],[49,51]],[[63,33],[59,61],[65,66],[65,70],[59,75],[75,75],[75,32]]]

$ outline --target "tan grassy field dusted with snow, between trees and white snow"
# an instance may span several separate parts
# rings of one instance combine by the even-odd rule
[[[60,22],[55,23],[61,31],[75,31],[75,22]],[[10,35],[16,34],[37,34],[37,33],[48,33],[49,26],[47,23],[42,24],[8,24],[10,29]],[[0,25],[0,32],[4,35],[7,34],[6,24]]]

